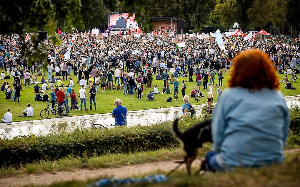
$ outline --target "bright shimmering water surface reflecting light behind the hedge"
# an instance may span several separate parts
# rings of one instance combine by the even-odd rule
[[[291,104],[300,105],[300,101],[298,99],[286,99],[286,104],[288,107],[290,107]],[[196,109],[196,115],[199,115],[201,113],[202,105],[194,106],[194,108]],[[182,107],[172,107],[143,110],[140,112],[130,112],[127,114],[127,124],[129,127],[138,124],[145,126],[170,121],[181,116],[181,111]],[[51,123],[48,122],[44,124],[28,124],[20,127],[1,128],[0,137],[1,139],[12,139],[15,136],[29,136],[31,134],[46,135],[49,133],[56,134],[61,132],[72,132],[76,128],[91,128],[92,124],[103,124],[104,126],[112,125],[115,124],[115,118],[112,118],[111,116],[99,116],[97,119],[82,119],[77,121]]]

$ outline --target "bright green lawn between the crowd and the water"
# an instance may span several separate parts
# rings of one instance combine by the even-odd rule
[[[285,75],[278,75],[279,80],[282,80],[282,78]],[[77,81],[77,77],[75,75],[68,76],[71,77],[74,82]],[[217,77],[217,76],[216,76]],[[227,80],[228,80],[228,75],[224,75],[223,79],[223,86],[221,87],[221,90],[226,89],[227,87]],[[288,75],[289,79],[291,79],[291,75]],[[38,76],[38,80],[41,80],[41,76]],[[188,77],[179,77],[179,82],[181,85],[182,80],[188,80]],[[195,80],[195,76],[193,76],[193,80]],[[8,81],[10,85],[13,83],[13,79],[4,79],[0,80],[0,84],[2,85],[4,81]],[[292,83],[293,86],[296,88],[300,89],[300,80],[298,80],[297,83]],[[65,84],[68,84],[68,81],[64,81]],[[218,83],[217,80],[214,82],[215,84]],[[153,89],[154,85],[158,85],[158,90],[162,91],[162,87],[164,85],[163,80],[153,80],[152,82],[152,88],[145,88],[144,87],[144,96],[143,100],[137,100],[137,93],[134,94],[133,96],[130,95],[123,95],[123,90],[106,90],[105,93],[101,92],[101,89],[99,89],[98,94],[96,96],[96,103],[97,103],[97,110],[92,110],[92,111],[70,111],[69,115],[70,116],[75,116],[75,115],[90,115],[90,114],[101,114],[101,113],[109,113],[112,112],[114,108],[114,100],[116,98],[119,98],[122,100],[122,105],[126,106],[128,111],[133,111],[133,110],[144,110],[144,109],[155,109],[155,108],[164,108],[164,107],[176,107],[176,106],[182,106],[182,94],[179,91],[179,100],[172,100],[172,102],[167,102],[167,98],[169,96],[173,96],[173,94],[156,94],[155,95],[155,100],[154,101],[147,101],[146,95],[149,93],[150,90]],[[286,83],[280,83],[280,91],[283,93],[284,96],[289,96],[289,95],[299,95],[300,92],[298,89],[296,90],[288,90],[285,89]],[[41,87],[42,84],[39,84]],[[190,91],[193,87],[196,86],[196,82],[186,82],[187,89],[185,91],[186,95],[190,94]],[[35,93],[33,93],[33,87],[34,85],[30,85],[30,88],[25,87],[23,85],[23,91],[21,92],[20,95],[20,102],[19,103],[13,103],[11,100],[6,100],[4,92],[0,92],[0,114],[1,118],[4,116],[4,113],[6,112],[7,108],[10,108],[10,112],[13,114],[13,121],[27,121],[27,120],[37,120],[41,119],[40,112],[44,108],[46,108],[46,103],[42,101],[35,101]],[[173,92],[173,86],[171,87],[171,92]],[[79,85],[75,84],[75,92],[78,93],[79,90]],[[88,89],[86,89],[88,91]],[[201,86],[201,91],[203,90],[203,86]],[[216,89],[214,89],[214,92]],[[50,93],[50,90],[47,90],[47,93]],[[204,90],[203,94],[205,95],[205,98],[199,98],[200,102],[197,104],[204,104],[206,102],[206,97],[208,95],[208,91]],[[215,102],[216,102],[216,96],[215,97]],[[32,107],[34,108],[34,116],[30,118],[20,118],[18,117],[19,115],[22,114],[22,111],[26,108],[26,105],[30,103]],[[191,100],[191,104],[194,104],[194,101]],[[79,105],[80,105],[80,100],[79,100]],[[89,109],[90,101],[87,99],[87,108]],[[70,107],[70,100],[69,100],[69,107]],[[83,107],[83,106],[82,106]],[[84,108],[84,107],[83,107]],[[94,107],[93,107],[94,108]],[[48,118],[55,118],[55,115],[50,114]]]

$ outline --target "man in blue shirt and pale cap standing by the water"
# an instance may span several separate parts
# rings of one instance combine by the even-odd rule
[[[116,118],[116,126],[122,126],[122,125],[127,125],[127,108],[123,107],[122,105],[122,100],[116,98],[115,99],[115,107],[113,109],[112,117]]]

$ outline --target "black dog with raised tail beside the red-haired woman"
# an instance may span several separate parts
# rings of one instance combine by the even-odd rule
[[[182,140],[183,148],[187,155],[184,157],[184,161],[187,166],[187,172],[190,175],[190,166],[198,155],[198,148],[202,147],[204,142],[212,142],[211,138],[211,119],[200,122],[187,129],[184,133],[179,132],[177,123],[178,118],[173,122],[173,130],[176,135]]]

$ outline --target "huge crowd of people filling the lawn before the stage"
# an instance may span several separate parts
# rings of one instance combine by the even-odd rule
[[[149,101],[155,99],[155,94],[171,91],[174,99],[179,99],[180,90],[184,98],[186,83],[180,83],[178,77],[188,77],[186,81],[195,82],[190,97],[204,97],[203,90],[208,90],[208,97],[217,94],[219,101],[222,80],[234,66],[233,57],[248,49],[259,49],[267,54],[274,69],[279,74],[291,76],[292,82],[296,81],[296,74],[299,73],[299,38],[262,37],[256,41],[224,38],[226,49],[220,50],[212,37],[199,39],[183,35],[141,35],[125,39],[115,34],[99,36],[65,34],[61,36],[61,45],[43,41],[48,58],[29,64],[20,54],[19,40],[16,39],[16,45],[11,45],[13,37],[2,35],[0,42],[4,48],[0,49],[0,79],[5,79],[1,87],[5,98],[19,102],[22,87],[35,85],[33,92],[36,101],[50,101],[52,106],[58,103],[68,113],[69,109],[76,110],[79,97],[80,110],[83,110],[82,104],[85,110],[92,110],[92,104],[97,110],[96,95],[99,91],[105,93],[106,89],[123,90],[124,95],[137,92],[137,99],[146,95]],[[185,42],[185,47],[178,47],[177,40],[173,39]],[[28,42],[28,51],[31,50],[32,44]],[[70,57],[66,57],[69,56],[66,55],[68,51]],[[68,78],[70,75],[76,75],[78,79]],[[6,79],[8,77],[12,79]],[[162,81],[162,91],[158,91],[157,85],[152,85],[153,79]],[[77,92],[73,88],[75,84],[80,87]],[[153,90],[144,94],[145,86]],[[290,82],[285,87],[295,89]],[[86,106],[87,98],[90,100],[89,109]]]

